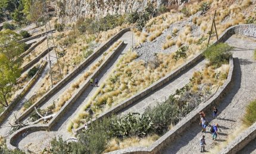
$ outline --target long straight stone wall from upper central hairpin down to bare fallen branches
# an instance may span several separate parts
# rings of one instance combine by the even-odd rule
[[[110,45],[112,43],[114,43],[119,37],[121,37],[127,31],[130,31],[130,28],[124,28],[119,33],[115,34],[115,36],[111,37],[111,39],[109,41],[107,41],[107,43],[105,43],[101,47],[99,47],[99,49],[96,50],[96,52],[94,52],[87,59],[85,59],[76,69],[73,70],[73,72],[71,72],[67,76],[65,76],[65,78],[63,78],[60,82],[58,82],[58,84],[55,85],[50,91],[46,92],[46,94],[43,95],[40,98],[40,100],[35,102],[35,104],[33,104],[26,111],[24,111],[24,113],[21,114],[20,117],[17,118],[17,121],[23,120],[23,118],[25,118],[27,115],[29,115],[34,110],[35,107],[39,107],[39,105],[42,104],[42,102],[44,102],[45,100],[50,98],[52,96],[52,94],[54,94],[54,92],[58,91],[58,89],[60,89],[71,78],[73,78],[74,75],[76,75],[80,70],[85,68],[85,66],[88,65],[89,62],[91,62],[92,60],[95,60],[102,52],[104,52],[108,47],[110,47]]]

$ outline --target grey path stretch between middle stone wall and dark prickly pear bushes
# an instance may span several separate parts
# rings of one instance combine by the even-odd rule
[[[147,107],[154,107],[158,103],[164,102],[167,98],[175,94],[176,89],[180,89],[189,83],[189,79],[192,78],[193,72],[200,71],[204,68],[206,60],[200,60],[189,69],[184,70],[176,78],[171,79],[165,86],[160,89],[151,92],[150,94],[143,97],[141,100],[134,102],[132,105],[124,108],[119,113],[127,114],[130,112],[143,113]]]

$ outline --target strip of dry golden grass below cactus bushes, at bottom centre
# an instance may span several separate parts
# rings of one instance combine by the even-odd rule
[[[160,136],[157,134],[152,134],[151,136],[139,138],[139,137],[129,137],[127,139],[117,139],[113,138],[110,140],[110,142],[107,145],[107,149],[105,149],[106,152],[111,152],[118,149],[125,149],[127,147],[148,147],[151,146],[152,143],[154,143],[157,139],[159,139]]]

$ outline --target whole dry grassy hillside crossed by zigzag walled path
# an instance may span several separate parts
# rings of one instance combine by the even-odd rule
[[[0,152],[199,153],[205,135],[206,152],[254,153],[244,116],[255,100],[256,1],[158,4],[65,23],[73,9],[60,1],[53,31],[12,21],[36,32],[17,41],[30,46],[15,56],[8,105],[0,95]],[[201,111],[207,128],[218,123],[217,140],[201,133]]]

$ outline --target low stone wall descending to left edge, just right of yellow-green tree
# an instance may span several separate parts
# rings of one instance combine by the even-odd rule
[[[37,81],[37,79],[39,78],[39,76],[41,75],[43,69],[45,68],[45,66],[47,65],[47,62],[43,62],[40,66],[39,66],[39,70],[38,72],[36,72],[35,76],[33,76],[32,79],[30,79],[30,81],[24,86],[24,88],[21,90],[20,94],[18,94],[14,100],[10,103],[10,105],[5,109],[4,112],[2,112],[0,114],[0,124],[2,123],[2,121],[5,120],[5,118],[7,117],[7,115],[11,112],[11,110],[13,110],[13,108],[15,107],[15,105],[18,104],[18,102],[24,97],[24,95],[26,95],[26,93],[29,91],[29,89],[31,88],[31,86],[33,84],[35,84],[35,82]]]

